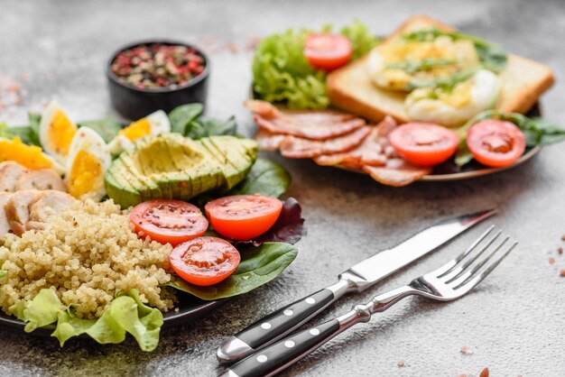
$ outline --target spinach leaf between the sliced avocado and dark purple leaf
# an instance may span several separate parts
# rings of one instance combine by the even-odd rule
[[[276,162],[257,159],[247,177],[226,195],[261,194],[278,198],[291,186],[291,174]]]

